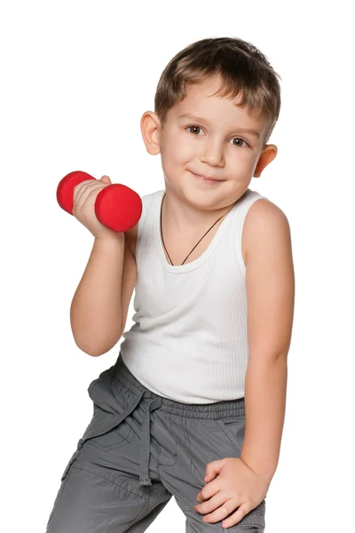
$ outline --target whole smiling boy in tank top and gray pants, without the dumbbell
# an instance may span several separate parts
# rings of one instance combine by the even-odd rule
[[[95,237],[71,306],[75,342],[99,356],[124,341],[89,386],[94,414],[48,533],[141,533],[172,495],[187,533],[264,531],[295,282],[288,219],[248,185],[277,154],[266,142],[279,112],[261,52],[203,39],[170,61],[142,116],[166,188],[143,197],[138,225],[99,224],[108,177],[75,187],[73,212]]]

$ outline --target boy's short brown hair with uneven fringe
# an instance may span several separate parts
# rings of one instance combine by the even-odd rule
[[[185,98],[190,84],[201,84],[210,76],[221,76],[222,86],[215,95],[236,98],[248,114],[266,116],[270,121],[264,145],[270,139],[280,114],[280,84],[264,54],[239,38],[207,38],[189,44],[170,60],[162,71],[155,97],[154,112],[162,127],[170,107]]]

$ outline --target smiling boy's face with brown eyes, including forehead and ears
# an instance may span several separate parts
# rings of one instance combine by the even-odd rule
[[[185,99],[169,110],[163,129],[153,114],[159,149],[154,152],[147,146],[151,153],[161,153],[168,187],[192,203],[197,200],[216,208],[225,206],[226,198],[230,203],[238,199],[254,173],[258,177],[277,153],[274,145],[263,147],[266,119],[249,116],[245,108],[236,107],[239,99],[211,97],[219,86],[217,78],[210,78],[188,88]],[[153,121],[150,123],[153,128]],[[255,130],[259,136],[244,128]],[[256,168],[263,148],[268,154]],[[195,174],[220,181],[211,184]]]

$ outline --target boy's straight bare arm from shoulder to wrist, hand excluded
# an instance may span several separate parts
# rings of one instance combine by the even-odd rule
[[[260,200],[250,215],[245,221],[249,351],[241,459],[271,481],[279,461],[286,408],[295,275],[284,213]],[[253,219],[252,226],[247,219]]]

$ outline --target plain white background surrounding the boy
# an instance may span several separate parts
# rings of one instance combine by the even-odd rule
[[[141,196],[162,189],[160,156],[147,154],[140,117],[154,110],[171,57],[210,36],[255,44],[282,77],[269,141],[279,154],[250,184],[286,213],[296,269],[287,416],[266,533],[353,527],[350,4],[1,4],[2,529],[45,530],[91,418],[87,386],[119,353],[120,343],[92,358],[72,338],[69,306],[93,237],[59,208],[59,179],[83,170]],[[132,312],[131,301],[127,329]],[[174,498],[149,530],[185,531]]]

